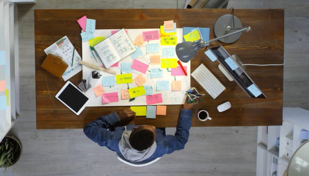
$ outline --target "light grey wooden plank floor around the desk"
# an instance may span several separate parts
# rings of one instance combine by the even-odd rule
[[[21,116],[11,133],[22,141],[23,155],[14,168],[6,172],[1,169],[1,175],[255,175],[256,127],[192,128],[184,150],[164,155],[142,168],[119,162],[115,153],[87,139],[82,129],[36,130],[34,9],[183,8],[184,3],[185,0],[37,0],[36,5],[19,5]],[[230,0],[228,7],[286,9],[284,106],[309,109],[309,1]],[[167,129],[169,134],[174,132],[175,128]]]

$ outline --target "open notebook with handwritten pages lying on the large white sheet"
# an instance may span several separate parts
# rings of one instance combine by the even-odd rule
[[[125,29],[121,29],[102,42],[96,44],[93,46],[93,49],[103,62],[105,68],[109,68],[136,51]]]

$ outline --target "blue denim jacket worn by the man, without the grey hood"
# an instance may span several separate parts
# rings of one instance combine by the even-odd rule
[[[124,158],[119,150],[118,143],[121,139],[125,127],[116,127],[116,123],[120,122],[117,113],[111,113],[106,116],[99,117],[95,121],[88,123],[84,127],[84,133],[92,141],[100,146],[106,146],[108,149],[118,153]],[[155,158],[162,157],[165,153],[173,153],[175,150],[184,149],[184,145],[188,141],[189,129],[192,125],[192,110],[181,109],[180,117],[176,127],[175,136],[163,134],[163,130],[156,129],[157,148],[150,158],[142,161],[149,162]],[[133,131],[133,124],[127,125],[127,130]]]

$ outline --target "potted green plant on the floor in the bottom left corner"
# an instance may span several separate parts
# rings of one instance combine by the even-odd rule
[[[23,151],[20,140],[14,135],[6,135],[0,142],[0,167],[14,165]]]

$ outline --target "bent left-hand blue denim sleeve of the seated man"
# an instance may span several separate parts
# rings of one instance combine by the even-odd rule
[[[112,132],[108,128],[117,122],[120,122],[117,113],[111,113],[88,123],[84,127],[84,133],[100,146],[107,146],[108,139],[112,136]]]

